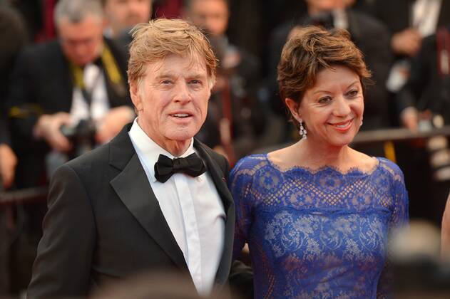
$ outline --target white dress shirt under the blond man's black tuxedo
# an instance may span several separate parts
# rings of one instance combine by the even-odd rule
[[[213,180],[208,172],[195,178],[175,173],[167,182],[158,182],[155,162],[160,154],[171,159],[173,154],[151,140],[138,125],[137,118],[128,134],[170,231],[183,251],[195,288],[198,293],[208,295],[218,271],[225,234],[225,211]],[[194,152],[192,139],[180,157]]]

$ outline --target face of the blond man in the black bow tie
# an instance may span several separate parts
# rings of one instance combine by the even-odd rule
[[[145,76],[131,83],[138,124],[158,145],[190,140],[205,122],[210,78],[201,57],[169,55],[148,63]]]

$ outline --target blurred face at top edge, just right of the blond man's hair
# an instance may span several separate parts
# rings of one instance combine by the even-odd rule
[[[222,36],[228,26],[228,6],[225,0],[192,0],[187,17],[213,36]]]

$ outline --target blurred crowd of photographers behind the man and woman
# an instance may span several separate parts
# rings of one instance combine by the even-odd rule
[[[188,19],[210,38],[220,68],[197,137],[230,164],[300,138],[277,92],[287,38],[309,24],[347,29],[373,80],[353,146],[397,162],[411,219],[440,227],[450,187],[448,0],[91,0],[92,17],[81,19],[60,18],[56,2],[0,0],[0,295],[29,283],[53,170],[135,117],[129,30],[150,18]]]

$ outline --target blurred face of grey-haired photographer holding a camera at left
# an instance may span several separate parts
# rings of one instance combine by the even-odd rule
[[[103,20],[86,16],[78,23],[67,18],[58,23],[58,33],[64,55],[76,65],[91,63],[100,55],[103,46]]]

